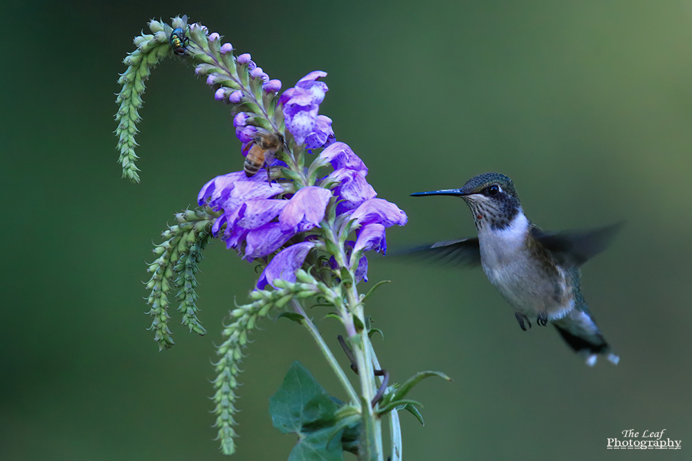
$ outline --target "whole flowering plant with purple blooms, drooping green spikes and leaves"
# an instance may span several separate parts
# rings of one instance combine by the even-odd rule
[[[205,26],[176,17],[172,25],[151,21],[149,27],[152,34],[136,37],[137,50],[125,59],[128,68],[118,80],[122,91],[116,134],[123,176],[139,181],[134,153],[138,109],[145,79],[165,57],[193,64],[215,99],[230,106],[239,153],[246,156],[243,170],[203,185],[199,208],[176,215],[177,224],[154,248],[157,259],[149,265],[147,302],[159,348],[174,344],[168,310],[173,289],[183,326],[199,335],[206,332],[197,319],[195,273],[203,247],[219,238],[262,268],[251,301],[230,311],[217,349],[213,400],[221,450],[235,452],[236,391],[248,335],[259,321],[279,314],[307,329],[348,398],[336,404],[307,370],[291,367],[270,406],[277,429],[299,435],[296,459],[304,459],[304,453],[334,459],[352,451],[361,460],[383,460],[381,417],[389,414],[392,459],[401,460],[397,411],[411,404],[403,395],[413,384],[400,392],[388,386],[388,373],[376,377],[375,370],[383,372],[370,342],[365,297],[357,285],[367,281],[366,253],[384,254],[385,229],[405,225],[408,218],[394,203],[376,198],[363,160],[336,141],[331,118],[319,114],[329,90],[321,80],[327,73],[315,70],[280,93],[279,80],[270,79],[248,53],[236,56],[230,43],[222,44],[221,35],[210,34]],[[358,373],[357,391],[307,316],[308,303],[329,305],[335,312],[327,317],[343,324]],[[312,402],[309,411],[301,406],[305,402]]]

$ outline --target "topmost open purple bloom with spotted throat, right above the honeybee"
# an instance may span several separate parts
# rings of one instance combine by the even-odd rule
[[[279,99],[280,104],[283,104],[286,129],[291,132],[298,144],[303,144],[315,131],[320,103],[325,99],[325,93],[329,89],[324,82],[318,82],[317,79],[326,75],[326,72],[314,70],[298,80],[295,87],[284,91]],[[324,131],[326,129],[323,120],[320,133]],[[328,136],[329,133],[325,135],[325,141]],[[313,140],[314,142],[317,140]]]

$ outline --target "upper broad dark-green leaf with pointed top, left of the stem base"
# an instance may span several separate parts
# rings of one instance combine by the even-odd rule
[[[274,427],[283,433],[298,433],[301,440],[316,426],[331,427],[336,410],[338,405],[299,361],[291,364],[283,384],[269,399]]]

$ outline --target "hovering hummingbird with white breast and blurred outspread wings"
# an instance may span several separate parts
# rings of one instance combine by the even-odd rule
[[[579,266],[605,249],[620,224],[577,232],[543,232],[524,214],[512,180],[484,173],[460,189],[411,194],[457,196],[471,208],[477,238],[426,245],[414,252],[467,265],[480,264],[490,282],[516,310],[522,330],[552,323],[572,349],[593,366],[598,355],[619,357],[591,317],[581,294]]]

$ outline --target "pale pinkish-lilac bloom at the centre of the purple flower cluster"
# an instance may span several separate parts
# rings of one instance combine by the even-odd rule
[[[279,214],[284,232],[305,232],[320,224],[331,198],[331,191],[322,187],[308,186],[298,189]]]

